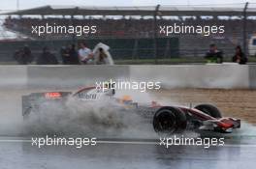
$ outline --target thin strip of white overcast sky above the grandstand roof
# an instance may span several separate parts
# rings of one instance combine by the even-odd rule
[[[256,0],[1,0],[0,10],[28,9],[45,5],[75,5],[75,6],[152,6],[152,5],[212,5],[255,3]],[[227,5],[225,5],[227,6]]]

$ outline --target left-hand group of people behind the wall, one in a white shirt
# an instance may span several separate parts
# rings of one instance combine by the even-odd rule
[[[16,50],[14,58],[20,65],[35,63],[37,65],[113,65],[112,56],[106,44],[98,43],[92,51],[85,42],[80,42],[80,48],[76,44],[62,46],[59,52],[61,61],[50,51],[48,46],[44,46],[42,53],[34,57],[28,45]],[[107,48],[106,48],[107,47]]]

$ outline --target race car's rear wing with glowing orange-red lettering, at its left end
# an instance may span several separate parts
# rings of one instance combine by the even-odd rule
[[[32,93],[27,96],[22,96],[22,116],[26,116],[30,113],[36,104],[39,104],[44,100],[58,100],[64,99],[70,96],[72,92],[46,92],[46,93]]]

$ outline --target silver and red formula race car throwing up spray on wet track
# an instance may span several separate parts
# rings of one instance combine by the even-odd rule
[[[110,99],[116,102],[115,106],[118,112],[127,111],[127,113],[139,114],[148,119],[154,130],[160,134],[180,133],[187,129],[229,133],[234,128],[240,128],[240,120],[222,117],[220,111],[211,104],[200,104],[194,108],[175,105],[164,106],[155,101],[140,104],[134,102],[129,96],[116,98],[115,92],[114,89],[102,91],[96,87],[86,87],[76,93],[32,93],[22,97],[22,115],[24,119],[29,118],[29,115],[36,112],[44,101],[65,102],[72,98],[84,103],[84,101]],[[63,106],[65,105],[63,104]]]

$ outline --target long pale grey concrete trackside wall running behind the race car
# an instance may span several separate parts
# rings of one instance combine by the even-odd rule
[[[110,79],[160,81],[164,88],[256,89],[256,66],[0,66],[0,87],[77,88]]]

